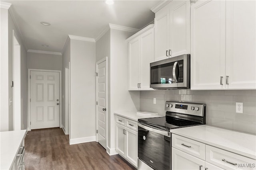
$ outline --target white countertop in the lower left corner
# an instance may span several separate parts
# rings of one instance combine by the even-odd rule
[[[18,149],[26,136],[26,130],[0,132],[0,169],[9,170]]]

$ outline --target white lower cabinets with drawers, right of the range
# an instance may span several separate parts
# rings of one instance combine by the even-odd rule
[[[172,134],[172,170],[255,170],[256,168],[256,160],[252,158],[206,144],[204,147],[202,144],[204,143]]]

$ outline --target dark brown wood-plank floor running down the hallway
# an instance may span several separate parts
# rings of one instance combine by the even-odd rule
[[[135,170],[119,155],[109,156],[97,142],[69,145],[60,128],[28,131],[26,170]]]

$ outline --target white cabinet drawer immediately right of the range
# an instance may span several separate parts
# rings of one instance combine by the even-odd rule
[[[205,144],[172,134],[172,147],[205,160]]]

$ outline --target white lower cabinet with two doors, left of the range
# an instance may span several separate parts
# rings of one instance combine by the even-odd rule
[[[116,151],[137,168],[138,132],[136,121],[116,115]]]

